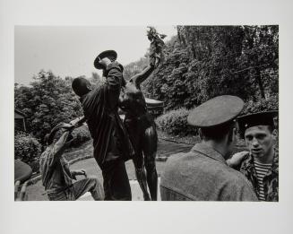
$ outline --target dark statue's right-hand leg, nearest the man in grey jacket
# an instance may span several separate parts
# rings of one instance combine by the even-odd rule
[[[158,173],[156,169],[156,153],[158,147],[158,135],[154,124],[145,130],[142,142],[144,165],[147,173],[147,182],[150,188],[151,200],[157,201]]]

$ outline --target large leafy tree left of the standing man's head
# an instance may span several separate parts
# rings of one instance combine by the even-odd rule
[[[56,124],[82,116],[72,81],[71,77],[61,79],[52,72],[40,71],[30,87],[14,87],[14,106],[26,115],[28,131],[41,143]]]

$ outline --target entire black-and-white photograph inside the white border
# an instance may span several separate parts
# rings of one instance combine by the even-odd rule
[[[279,201],[278,25],[16,26],[14,53],[16,200]]]

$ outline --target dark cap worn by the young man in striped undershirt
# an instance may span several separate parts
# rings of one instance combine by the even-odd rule
[[[244,138],[246,129],[252,126],[275,126],[274,118],[277,116],[278,110],[271,110],[237,117],[240,136]]]

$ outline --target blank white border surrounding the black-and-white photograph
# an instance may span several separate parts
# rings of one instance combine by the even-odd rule
[[[1,233],[293,233],[290,1],[0,0]],[[279,203],[13,202],[14,25],[280,25]],[[131,46],[131,45],[129,45]]]

